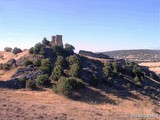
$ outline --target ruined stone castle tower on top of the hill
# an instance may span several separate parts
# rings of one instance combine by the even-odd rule
[[[52,36],[51,45],[59,45],[59,46],[63,45],[62,35]]]

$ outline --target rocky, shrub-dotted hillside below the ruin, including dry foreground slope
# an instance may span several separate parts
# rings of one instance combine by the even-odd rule
[[[6,57],[0,66],[0,118],[21,119],[26,113],[26,119],[127,120],[126,114],[141,113],[158,119],[157,74],[134,62],[91,52],[86,57],[74,49],[45,40],[25,54]]]

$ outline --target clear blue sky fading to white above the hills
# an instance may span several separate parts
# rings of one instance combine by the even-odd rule
[[[0,50],[62,34],[76,51],[160,48],[159,0],[0,0]]]

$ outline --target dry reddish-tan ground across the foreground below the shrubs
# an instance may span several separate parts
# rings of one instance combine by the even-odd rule
[[[131,115],[154,115],[147,120],[160,119],[159,106],[148,98],[121,99],[112,94],[107,97],[118,104],[73,101],[44,91],[10,90],[0,88],[0,120],[142,120]],[[95,96],[98,97],[98,96]]]

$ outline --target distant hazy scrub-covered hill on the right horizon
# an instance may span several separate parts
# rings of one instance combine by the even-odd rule
[[[160,50],[116,50],[102,53],[113,58],[125,59],[129,61],[160,61]]]

